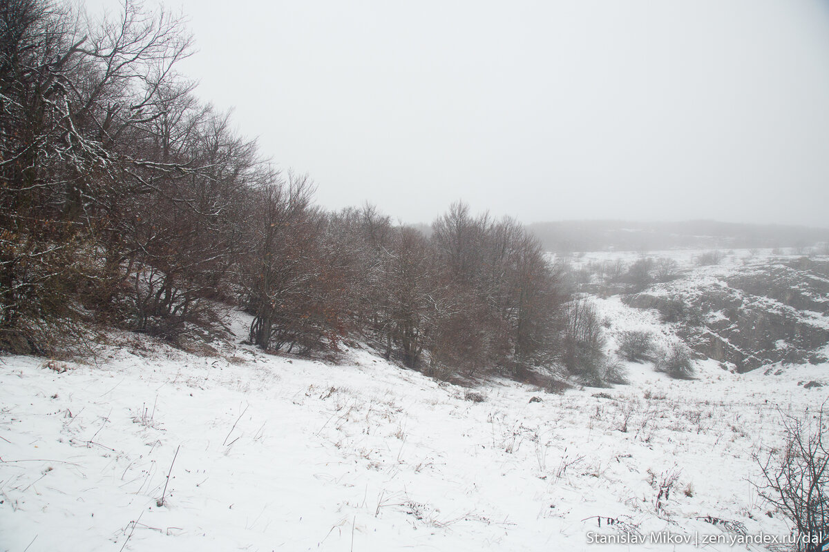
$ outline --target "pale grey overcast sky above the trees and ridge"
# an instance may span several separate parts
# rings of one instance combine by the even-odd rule
[[[829,0],[162,3],[327,208],[829,227]]]

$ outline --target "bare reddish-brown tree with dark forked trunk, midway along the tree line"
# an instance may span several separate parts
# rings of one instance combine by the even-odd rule
[[[299,353],[337,348],[347,304],[346,259],[325,242],[327,217],[313,209],[307,176],[278,175],[254,190],[255,216],[243,261],[250,342]]]

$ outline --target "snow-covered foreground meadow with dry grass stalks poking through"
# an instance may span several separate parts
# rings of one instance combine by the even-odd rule
[[[599,305],[616,328],[658,325]],[[356,349],[335,366],[124,334],[86,364],[0,358],[0,550],[585,550],[593,531],[788,534],[752,455],[779,444],[778,409],[827,399],[802,385],[826,383],[827,366],[739,375],[701,362],[690,382],[628,369],[631,385],[554,395],[466,389]],[[632,548],[696,550],[600,546]]]

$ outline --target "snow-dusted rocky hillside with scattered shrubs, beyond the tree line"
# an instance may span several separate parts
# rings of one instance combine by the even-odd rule
[[[701,262],[706,256],[715,262]],[[639,286],[625,281],[629,273],[608,276],[643,261],[671,262],[675,268],[666,281]],[[626,305],[655,314],[647,317],[648,328],[676,334],[697,358],[711,358],[739,372],[780,363],[820,365],[829,358],[826,255],[771,250],[602,252],[570,264],[581,280],[580,291],[617,294]]]

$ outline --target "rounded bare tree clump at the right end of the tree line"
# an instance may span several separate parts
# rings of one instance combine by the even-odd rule
[[[511,218],[473,218],[463,203],[453,204],[432,228],[451,294],[463,302],[442,318],[442,349],[455,342],[472,362],[510,370],[549,365],[563,297],[537,239]]]

